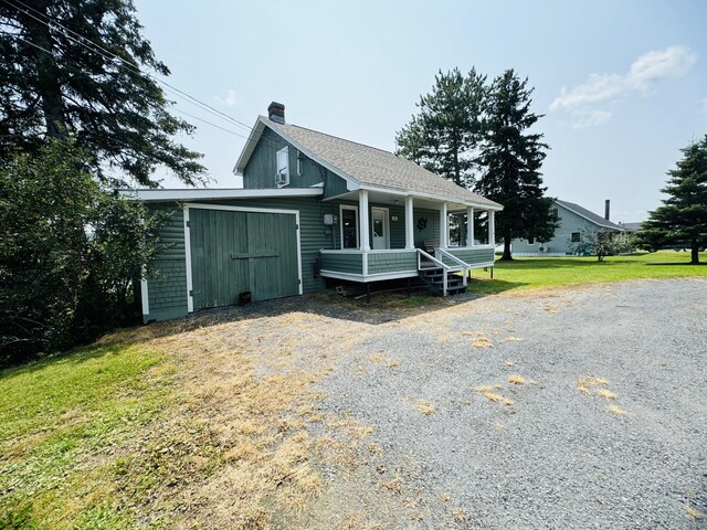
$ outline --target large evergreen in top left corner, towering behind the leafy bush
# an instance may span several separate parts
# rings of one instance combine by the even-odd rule
[[[193,127],[169,114],[147,73],[169,70],[140,30],[130,0],[0,0],[0,162],[71,136],[102,178],[155,186],[165,166],[202,182],[201,155],[172,140]]]

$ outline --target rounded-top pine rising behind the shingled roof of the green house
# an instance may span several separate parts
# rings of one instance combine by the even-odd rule
[[[420,96],[419,114],[395,135],[395,155],[471,187],[474,149],[481,137],[485,76],[458,68],[434,77],[432,92]]]

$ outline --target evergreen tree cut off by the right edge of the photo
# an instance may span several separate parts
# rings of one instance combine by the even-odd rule
[[[707,135],[680,150],[685,156],[667,172],[668,183],[661,190],[669,197],[650,212],[639,236],[654,248],[686,244],[696,265],[699,250],[707,246]]]

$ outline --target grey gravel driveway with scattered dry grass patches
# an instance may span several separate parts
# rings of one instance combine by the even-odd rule
[[[308,526],[707,528],[706,299],[630,282],[369,325],[319,388],[382,452]]]

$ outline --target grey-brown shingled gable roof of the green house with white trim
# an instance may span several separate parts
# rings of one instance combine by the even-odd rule
[[[238,174],[243,173],[265,127],[275,131],[307,157],[360,189],[391,190],[453,200],[492,210],[503,209],[497,202],[456,186],[392,152],[296,125],[278,124],[263,116],[255,123],[246,147],[239,158],[235,166]]]

